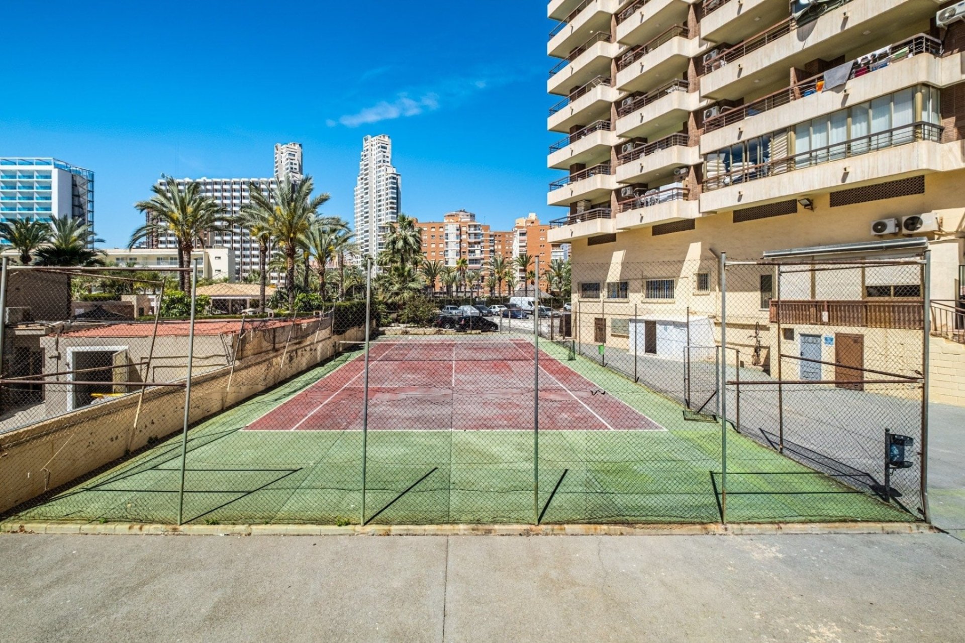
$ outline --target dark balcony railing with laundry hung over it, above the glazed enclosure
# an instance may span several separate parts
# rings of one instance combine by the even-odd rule
[[[869,74],[872,71],[877,71],[878,69],[883,69],[889,65],[896,63],[899,60],[915,56],[917,54],[931,54],[932,56],[938,56],[942,52],[942,41],[931,38],[930,36],[925,36],[924,34],[919,34],[908,40],[901,40],[895,44],[888,47],[887,52],[883,52],[881,55],[868,55],[859,58],[855,61],[853,67],[851,67],[851,73],[848,75],[848,80],[858,78]],[[791,85],[790,87],[775,92],[774,94],[767,94],[753,102],[749,102],[746,105],[741,105],[740,107],[734,107],[728,109],[727,111],[715,116],[711,119],[703,121],[703,131],[712,132],[715,129],[720,129],[721,127],[726,127],[735,122],[744,121],[752,116],[761,114],[763,112],[770,111],[775,107],[780,107],[786,105],[789,102],[817,94],[824,89],[824,74],[819,73],[816,76],[803,80],[796,85]]]

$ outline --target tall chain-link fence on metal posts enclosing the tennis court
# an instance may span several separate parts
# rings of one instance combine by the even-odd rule
[[[566,306],[534,291],[473,313],[470,297],[419,324],[397,323],[409,300],[379,279],[363,300],[233,316],[175,269],[10,266],[0,511],[924,518],[924,262],[723,265],[575,264]],[[257,312],[243,286],[218,292]]]

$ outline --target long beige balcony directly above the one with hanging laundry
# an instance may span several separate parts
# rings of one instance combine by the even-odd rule
[[[896,24],[928,16],[926,4],[849,0],[800,29],[788,17],[708,59],[701,91],[705,97],[737,99],[752,94],[758,83],[786,77],[789,67],[803,67],[815,58],[833,58],[844,50],[871,50],[881,34],[895,31]]]

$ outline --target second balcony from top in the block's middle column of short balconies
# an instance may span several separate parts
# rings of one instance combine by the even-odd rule
[[[700,39],[691,39],[684,25],[674,25],[620,56],[617,88],[622,92],[648,92],[659,79],[681,75],[699,50]]]

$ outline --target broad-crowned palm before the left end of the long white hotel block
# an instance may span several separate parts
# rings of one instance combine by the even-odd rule
[[[151,186],[154,196],[149,201],[138,201],[134,207],[151,217],[149,223],[134,230],[128,248],[155,234],[173,234],[178,243],[178,267],[190,263],[195,244],[204,246],[207,233],[230,224],[217,201],[201,194],[201,184],[190,181],[183,187],[173,176]],[[187,290],[186,271],[179,273],[180,288]]]

